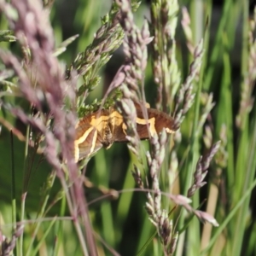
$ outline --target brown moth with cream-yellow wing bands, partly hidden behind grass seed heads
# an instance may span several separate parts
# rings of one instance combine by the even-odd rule
[[[146,108],[148,119],[145,119],[143,110],[138,106],[136,109],[137,133],[140,139],[148,139],[156,133],[159,134],[163,129],[166,129],[167,133],[177,130],[174,120],[167,113],[154,108]],[[75,160],[82,160],[102,147],[110,148],[113,143],[128,142],[126,130],[123,116],[114,107],[101,109],[84,116],[76,125]]]

